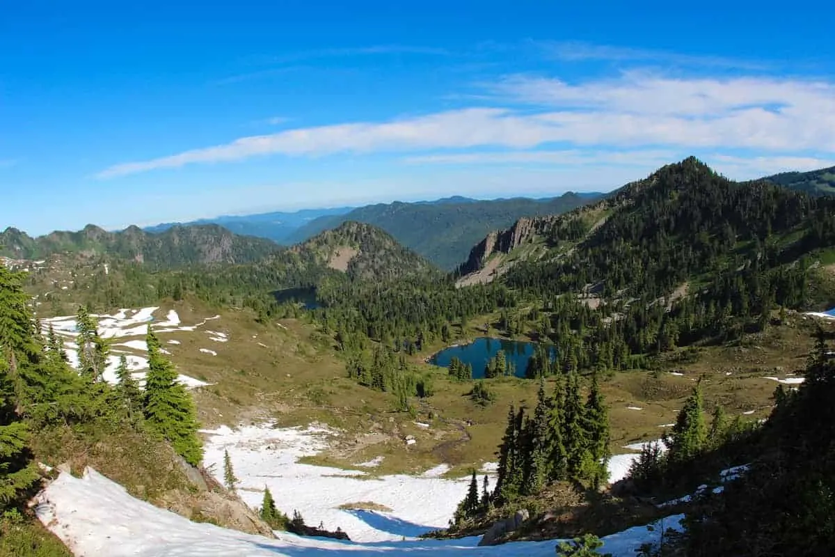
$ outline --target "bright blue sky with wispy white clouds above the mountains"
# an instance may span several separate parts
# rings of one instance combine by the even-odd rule
[[[826,3],[117,4],[4,5],[0,229],[835,165]]]

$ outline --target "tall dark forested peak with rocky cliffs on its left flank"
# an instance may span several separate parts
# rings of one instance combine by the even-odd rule
[[[635,286],[634,296],[660,296],[720,268],[794,261],[832,246],[832,214],[826,197],[762,180],[737,183],[691,157],[595,204],[493,233],[460,272],[490,280],[488,267],[496,275],[513,269],[505,278],[515,286],[552,277],[558,290]]]

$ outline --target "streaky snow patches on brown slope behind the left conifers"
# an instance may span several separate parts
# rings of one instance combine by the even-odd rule
[[[180,315],[175,310],[168,311],[164,321],[154,321],[154,312],[159,311],[159,307],[143,307],[138,310],[134,309],[120,309],[114,315],[97,315],[99,321],[99,336],[107,339],[121,339],[123,337],[141,337],[123,342],[114,342],[111,347],[111,355],[108,357],[107,367],[104,370],[104,381],[109,383],[116,383],[119,381],[116,377],[116,368],[119,367],[119,358],[124,356],[128,361],[128,368],[131,375],[139,380],[140,386],[144,386],[145,372],[148,370],[148,358],[125,352],[121,347],[129,348],[139,352],[147,352],[148,345],[145,343],[145,335],[148,332],[148,324],[154,332],[180,332],[180,331],[194,331],[197,327],[205,325],[203,322],[194,326],[181,326]],[[220,316],[209,317],[209,319],[217,319]],[[49,317],[42,319],[42,326],[44,334],[52,326],[54,332],[59,338],[63,339],[64,352],[67,354],[69,364],[73,367],[78,367],[78,344],[73,342],[73,339],[78,336],[77,327],[74,316]],[[179,341],[169,341],[170,344],[180,344]],[[166,354],[170,352],[164,351]],[[216,353],[215,353],[216,356]],[[178,380],[186,387],[204,387],[209,383],[180,374]]]

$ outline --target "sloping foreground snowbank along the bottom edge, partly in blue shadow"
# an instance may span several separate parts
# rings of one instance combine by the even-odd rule
[[[325,496],[326,493],[321,495]],[[284,532],[278,539],[243,534],[213,524],[195,523],[179,514],[134,499],[91,468],[78,479],[61,473],[36,498],[38,519],[67,544],[76,557],[373,557],[419,554],[433,557],[553,557],[557,540],[514,542],[478,547],[478,536],[436,540],[358,544],[323,538],[302,538]],[[412,499],[426,508],[426,500]],[[637,526],[603,538],[605,551],[632,557],[641,544],[657,543],[660,532],[681,529],[683,514],[652,527]]]

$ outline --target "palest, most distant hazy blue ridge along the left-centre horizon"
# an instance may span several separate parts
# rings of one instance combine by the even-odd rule
[[[146,226],[146,232],[159,233],[174,226],[220,225],[238,235],[257,236],[287,244],[288,238],[301,226],[319,217],[344,215],[354,207],[335,207],[332,209],[303,209],[293,212],[258,213],[256,215],[220,215],[211,219],[191,220],[190,222],[169,222]]]

